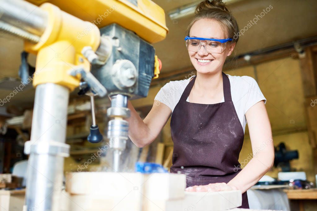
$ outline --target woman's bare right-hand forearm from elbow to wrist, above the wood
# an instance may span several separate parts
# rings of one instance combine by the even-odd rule
[[[273,158],[272,158],[273,157]],[[228,185],[235,186],[242,193],[255,185],[273,166],[274,155],[261,154],[253,157]]]

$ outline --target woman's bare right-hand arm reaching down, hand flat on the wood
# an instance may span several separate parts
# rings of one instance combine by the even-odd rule
[[[188,191],[241,190],[242,193],[256,184],[273,166],[274,145],[268,113],[263,100],[253,105],[245,114],[248,122],[253,158],[236,177],[225,183],[214,183],[187,188]]]

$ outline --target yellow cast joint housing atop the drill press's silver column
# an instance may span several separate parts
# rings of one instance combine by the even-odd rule
[[[90,46],[96,51],[100,44],[100,31],[97,27],[92,28],[90,22],[69,15],[53,4],[44,3],[41,9],[49,14],[49,23],[41,41],[36,44],[24,42],[25,51],[37,54],[33,86],[55,83],[73,91],[79,86],[80,77],[73,77],[68,71],[74,69],[75,65],[90,70],[90,63],[81,54],[81,49]],[[90,32],[78,39],[76,32],[89,27]]]

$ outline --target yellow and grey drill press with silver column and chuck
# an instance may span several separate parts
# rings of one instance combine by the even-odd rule
[[[25,144],[26,208],[58,210],[61,190],[56,187],[62,186],[69,156],[69,92],[80,86],[92,100],[94,95],[112,99],[107,136],[118,171],[128,139],[127,100],[147,96],[159,74],[151,44],[163,40],[168,29],[164,10],[150,0],[29,2],[0,0],[0,30],[24,39],[24,50],[37,55],[31,138]],[[95,122],[91,133],[90,141],[101,141]]]

